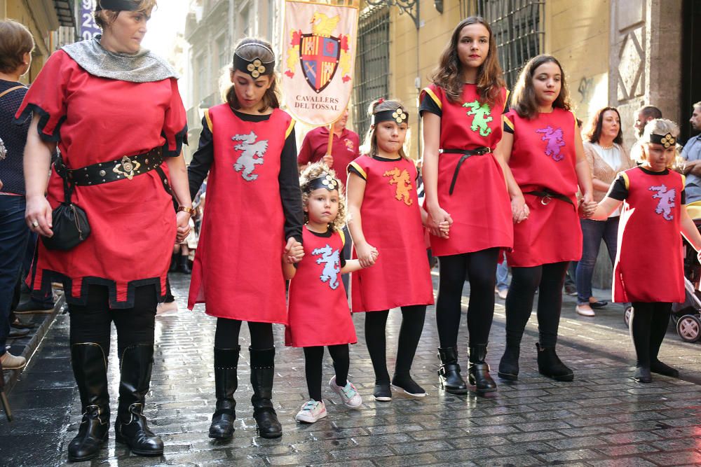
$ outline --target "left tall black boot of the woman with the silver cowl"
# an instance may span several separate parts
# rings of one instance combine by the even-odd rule
[[[71,346],[71,365],[81,395],[83,421],[68,445],[68,460],[93,459],[100,453],[109,431],[107,355],[100,344],[88,342]]]

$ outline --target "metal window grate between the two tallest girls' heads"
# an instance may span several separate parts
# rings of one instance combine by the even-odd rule
[[[477,15],[491,25],[509,88],[524,64],[543,48],[544,6],[545,0],[477,0]]]

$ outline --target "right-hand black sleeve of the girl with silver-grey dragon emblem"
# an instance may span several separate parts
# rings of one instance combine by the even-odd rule
[[[283,153],[280,154],[280,200],[283,201],[285,213],[285,242],[290,237],[302,242],[302,193],[299,189],[299,172],[297,172],[297,141],[294,139],[294,128],[285,139]]]

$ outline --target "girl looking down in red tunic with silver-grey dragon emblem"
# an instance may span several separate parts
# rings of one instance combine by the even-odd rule
[[[188,307],[205,303],[217,317],[217,407],[210,438],[233,434],[238,387],[238,334],[248,321],[253,415],[264,438],[282,427],[273,409],[275,347],[272,323],[287,324],[285,279],[279,251],[297,262],[302,209],[294,120],[275,97],[270,44],[243,39],[233,54],[226,103],[205,111],[200,146],[189,167],[194,197],[209,173],[207,215],[190,282]]]

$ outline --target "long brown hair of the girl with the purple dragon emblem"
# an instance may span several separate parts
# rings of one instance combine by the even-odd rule
[[[560,69],[560,93],[557,99],[552,103],[553,107],[569,110],[569,90],[567,90],[567,82],[565,81],[565,72],[562,65],[557,61],[557,58],[552,55],[536,55],[526,63],[519,74],[519,79],[514,86],[511,94],[511,108],[519,114],[519,117],[529,118],[529,120],[538,116],[538,99],[536,99],[536,91],[533,89],[533,75],[536,74],[536,69],[545,63],[554,63]]]

